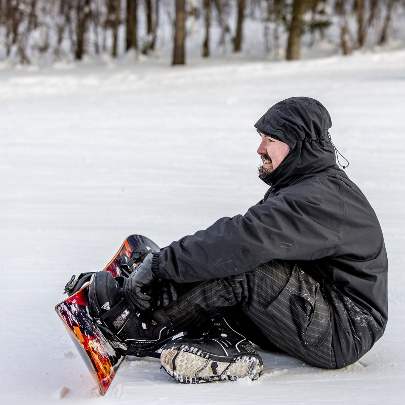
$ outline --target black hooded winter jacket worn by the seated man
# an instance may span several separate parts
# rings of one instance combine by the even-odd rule
[[[221,218],[154,256],[153,272],[176,282],[222,278],[282,259],[297,263],[322,286],[332,309],[338,367],[367,352],[387,321],[388,261],[376,214],[336,165],[318,101],[294,97],[255,124],[287,143],[281,164],[262,178],[270,185],[245,215]]]

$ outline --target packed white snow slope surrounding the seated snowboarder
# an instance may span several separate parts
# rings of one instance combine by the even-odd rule
[[[253,125],[291,96],[328,108],[346,172],[380,219],[390,263],[384,337],[342,370],[261,351],[256,382],[181,385],[158,360],[131,358],[99,396],[54,312],[67,280],[101,270],[131,233],[166,246],[256,204],[267,187]],[[0,402],[403,403],[404,111],[405,51],[0,71]]]

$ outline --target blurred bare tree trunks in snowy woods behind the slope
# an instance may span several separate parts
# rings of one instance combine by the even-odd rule
[[[249,54],[253,26],[263,57],[300,59],[322,41],[348,55],[395,39],[404,10],[405,0],[0,0],[0,60],[136,59],[165,46],[177,65],[196,38],[204,58]]]

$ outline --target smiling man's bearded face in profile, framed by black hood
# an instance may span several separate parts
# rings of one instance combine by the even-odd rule
[[[257,149],[257,153],[262,158],[262,165],[258,168],[260,176],[270,174],[282,160],[288,155],[290,146],[267,135],[260,134],[262,141]]]

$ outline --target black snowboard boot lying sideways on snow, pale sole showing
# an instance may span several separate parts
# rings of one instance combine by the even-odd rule
[[[172,340],[161,351],[165,371],[181,383],[259,378],[263,360],[244,336],[224,318],[210,319],[211,326],[200,338],[189,335]]]

